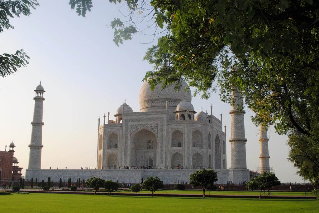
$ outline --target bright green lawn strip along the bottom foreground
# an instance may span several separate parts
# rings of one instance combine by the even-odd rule
[[[0,212],[318,212],[318,200],[0,195]]]

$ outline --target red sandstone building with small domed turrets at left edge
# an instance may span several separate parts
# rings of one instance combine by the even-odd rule
[[[0,180],[19,180],[22,173],[22,168],[18,166],[18,159],[13,156],[14,143],[9,145],[9,151],[7,152],[7,146],[5,151],[0,151]]]

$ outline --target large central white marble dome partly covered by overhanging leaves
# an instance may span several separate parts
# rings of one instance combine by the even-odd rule
[[[140,93],[139,93],[139,103],[140,111],[163,111],[166,110],[166,101],[167,101],[167,110],[173,112],[176,109],[178,103],[186,99],[187,101],[192,101],[192,94],[190,92],[188,84],[182,80],[182,86],[180,90],[175,90],[174,85],[171,85],[165,89],[162,89],[162,85],[156,85],[154,91],[151,90],[151,86],[148,82],[144,81]],[[185,88],[188,88],[185,91]]]

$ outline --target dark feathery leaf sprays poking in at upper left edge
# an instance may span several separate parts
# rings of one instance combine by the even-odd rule
[[[4,29],[13,29],[10,19],[20,17],[20,15],[28,16],[31,14],[30,9],[35,9],[39,3],[37,0],[3,0],[0,1],[0,32]],[[14,54],[3,53],[0,55],[0,76],[5,77],[18,71],[18,68],[25,67],[29,56],[23,49],[17,50]]]

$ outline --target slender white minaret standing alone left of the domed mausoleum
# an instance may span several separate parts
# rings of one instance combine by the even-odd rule
[[[42,150],[42,115],[43,115],[43,93],[45,93],[43,87],[40,85],[34,90],[35,97],[34,100],[34,111],[33,111],[33,121],[32,133],[31,133],[31,143],[30,155],[29,155],[29,167],[28,169],[41,169],[41,150]]]

